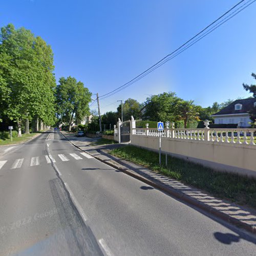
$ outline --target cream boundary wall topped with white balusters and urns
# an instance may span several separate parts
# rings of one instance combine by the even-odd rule
[[[211,168],[256,177],[256,129],[174,129],[166,122],[164,131],[136,128],[132,118],[131,144],[162,152]]]

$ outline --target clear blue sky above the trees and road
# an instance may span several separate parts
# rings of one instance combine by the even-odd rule
[[[54,52],[56,80],[73,76],[103,95],[175,50],[238,0],[2,0],[0,26],[25,27]],[[202,106],[248,97],[256,72],[256,3],[131,87],[100,102],[143,102],[174,91]],[[92,105],[96,109],[96,104]]]

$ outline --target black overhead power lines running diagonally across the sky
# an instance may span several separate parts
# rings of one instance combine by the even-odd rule
[[[155,63],[153,66],[151,66],[150,68],[148,68],[147,70],[145,70],[144,72],[142,72],[141,74],[139,74],[138,76],[136,76],[135,78],[133,78],[132,80],[130,80],[129,82],[126,82],[125,84],[123,84],[122,86],[118,87],[117,89],[106,93],[104,95],[101,95],[99,97],[103,97],[102,99],[108,98],[118,92],[120,92],[121,90],[125,89],[128,86],[131,86],[134,82],[140,80],[141,78],[143,78],[144,76],[146,76],[147,74],[153,72],[155,69],[159,68],[160,66],[162,66],[165,62],[167,62],[170,59],[173,59],[174,57],[178,56],[180,53],[182,53],[183,51],[187,50],[188,48],[190,48],[191,46],[193,46],[194,44],[196,44],[196,42],[198,42],[199,40],[201,40],[202,38],[204,38],[206,35],[208,35],[209,33],[213,32],[214,30],[216,30],[218,27],[220,27],[222,24],[226,23],[230,18],[232,18],[233,16],[237,15],[238,13],[240,13],[242,10],[244,10],[245,8],[247,8],[249,5],[253,4],[256,0],[253,1],[248,1],[246,3],[244,3],[242,6],[240,6],[238,9],[234,10],[231,14],[229,14],[227,17],[225,17],[224,19],[222,19],[226,14],[228,14],[229,12],[231,12],[233,9],[235,9],[236,7],[238,7],[240,4],[242,4],[245,0],[240,1],[238,4],[234,5],[232,8],[230,8],[228,11],[226,11],[224,14],[222,14],[219,18],[217,18],[214,22],[212,22],[210,25],[208,25],[207,27],[205,27],[203,30],[201,30],[199,33],[197,33],[195,36],[193,36],[192,38],[190,38],[189,40],[187,40],[182,46],[180,46],[179,48],[177,48],[175,51],[173,51],[172,53],[166,55],[164,58],[162,58],[161,60],[159,60],[157,63]],[[251,3],[250,3],[251,2]],[[221,20],[222,19],[222,20]],[[219,23],[217,23],[219,20],[221,20]],[[212,25],[214,25],[215,23],[217,23],[214,27],[211,27]],[[210,28],[211,27],[211,28]],[[209,29],[210,28],[210,29]],[[207,29],[209,29],[207,31]],[[202,35],[201,35],[202,34]],[[200,35],[199,38],[196,38]],[[196,39],[195,39],[196,38]],[[195,40],[194,40],[195,39]],[[188,44],[190,42],[190,44]],[[188,44],[188,45],[187,45]],[[186,46],[187,45],[187,46]],[[183,48],[184,46],[186,46],[185,48]],[[182,49],[183,48],[183,49]],[[173,55],[175,53],[175,55]]]

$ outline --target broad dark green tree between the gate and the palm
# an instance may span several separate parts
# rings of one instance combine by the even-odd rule
[[[174,92],[152,95],[144,102],[143,118],[148,121],[176,121],[179,119],[178,103],[180,101],[182,100]]]

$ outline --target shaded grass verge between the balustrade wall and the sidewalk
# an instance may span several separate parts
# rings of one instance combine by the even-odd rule
[[[216,197],[256,208],[256,179],[216,172],[200,164],[170,156],[167,166],[160,166],[158,153],[131,145],[116,148],[110,154],[150,168],[187,185],[193,185]],[[161,162],[165,163],[165,155],[162,155]]]

